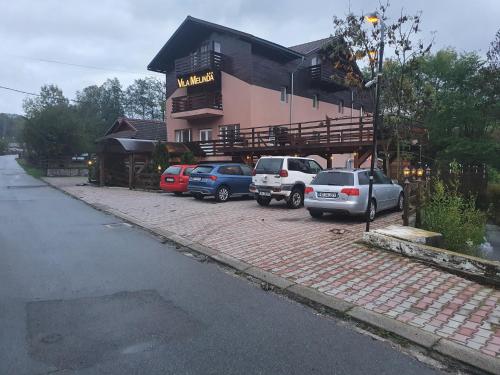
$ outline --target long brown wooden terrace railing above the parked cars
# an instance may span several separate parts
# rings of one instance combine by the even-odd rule
[[[364,116],[231,130],[186,145],[198,156],[322,155],[366,149],[372,139],[373,118]]]

